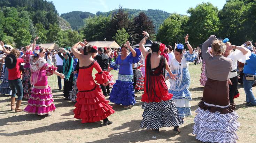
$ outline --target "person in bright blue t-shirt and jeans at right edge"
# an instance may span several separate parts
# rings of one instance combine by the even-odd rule
[[[251,45],[251,42],[248,41],[244,45]],[[251,52],[249,58],[249,60],[246,60],[245,66],[243,68],[243,88],[246,94],[246,105],[256,106],[256,99],[252,91],[253,84],[256,80],[256,54]]]

